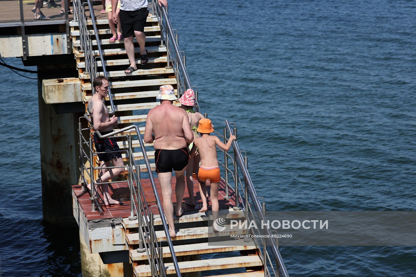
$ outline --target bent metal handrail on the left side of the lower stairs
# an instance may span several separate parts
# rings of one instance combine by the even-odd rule
[[[84,114],[84,118],[87,119],[88,123],[92,126],[92,121],[89,117],[89,114]],[[162,207],[161,201],[160,201],[158,191],[157,191],[157,188],[156,188],[156,183],[154,181],[153,175],[151,174],[152,169],[151,169],[151,166],[150,166],[150,163],[149,163],[149,158],[146,155],[146,149],[145,149],[145,146],[144,146],[144,143],[143,143],[143,139],[141,138],[139,127],[137,127],[136,125],[130,125],[130,126],[126,126],[124,128],[121,128],[119,130],[113,131],[113,132],[105,134],[105,135],[102,135],[100,133],[100,131],[98,131],[98,130],[94,130],[94,131],[97,133],[99,138],[108,138],[110,136],[114,136],[116,134],[120,134],[122,132],[130,131],[130,130],[136,131],[136,134],[139,138],[140,148],[141,148],[141,151],[143,153],[143,158],[144,158],[144,162],[146,164],[147,171],[149,172],[150,183],[151,183],[154,195],[155,195],[156,206],[159,210],[159,214],[160,214],[160,218],[161,218],[161,221],[162,221],[163,229],[165,231],[166,242],[168,243],[168,247],[169,247],[169,250],[171,252],[173,266],[175,267],[175,270],[176,270],[176,276],[181,277],[181,272],[179,270],[178,260],[176,259],[175,250],[173,249],[172,239],[171,239],[171,236],[169,234],[169,229],[168,229],[168,225],[166,223],[166,218],[165,218],[165,215],[163,213],[163,210],[161,209],[161,207]],[[131,145],[129,145],[129,151],[132,151],[131,150]],[[138,185],[138,184],[136,184],[136,185]],[[133,201],[133,199],[131,199],[131,201]],[[137,201],[137,202],[139,202],[139,201]],[[139,204],[139,203],[137,203],[137,204]],[[136,210],[136,212],[137,212],[137,215],[139,216],[138,213],[141,213],[141,210],[138,209],[138,210]],[[162,270],[162,269],[160,268],[160,270]]]

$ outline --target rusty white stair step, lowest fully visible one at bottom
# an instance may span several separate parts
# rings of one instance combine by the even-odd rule
[[[262,261],[258,255],[249,255],[244,257],[227,257],[219,259],[197,260],[178,262],[181,273],[198,272],[204,270],[220,270],[237,267],[254,267],[261,266]],[[175,273],[173,263],[165,263],[166,274]],[[137,277],[150,276],[151,270],[149,265],[137,265],[134,267],[134,274]]]

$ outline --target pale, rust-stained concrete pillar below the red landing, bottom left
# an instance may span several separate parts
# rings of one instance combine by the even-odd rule
[[[133,267],[129,262],[105,265],[99,253],[90,253],[81,232],[79,232],[81,249],[81,270],[83,277],[132,277]]]

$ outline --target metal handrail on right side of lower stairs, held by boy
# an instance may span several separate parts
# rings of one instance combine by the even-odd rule
[[[233,130],[230,127],[230,124],[228,123],[228,120],[225,120],[225,125],[228,129],[228,132],[230,132],[231,134],[234,134]],[[266,222],[266,217],[265,217],[264,213],[262,213],[263,209],[261,207],[260,201],[258,200],[257,193],[255,192],[253,182],[251,181],[250,173],[248,173],[248,170],[244,165],[243,155],[241,155],[241,153],[240,153],[240,147],[238,146],[237,141],[233,141],[232,146],[233,146],[233,149],[234,149],[235,156],[238,160],[238,166],[240,167],[240,171],[243,173],[244,178],[246,180],[246,188],[248,190],[248,193],[250,193],[250,196],[253,200],[253,205],[254,205],[255,211],[256,211],[259,219],[263,220],[263,222]],[[238,205],[238,203],[237,203],[238,199],[236,199],[235,202],[236,202],[235,205]],[[289,274],[287,273],[287,270],[286,270],[286,267],[285,267],[285,263],[283,262],[282,256],[280,255],[280,252],[277,249],[277,245],[272,240],[272,234],[271,234],[270,230],[268,228],[266,228],[265,232],[266,232],[266,235],[267,235],[266,239],[267,239],[267,241],[270,245],[270,249],[272,251],[273,258],[278,262],[283,276],[289,277]]]

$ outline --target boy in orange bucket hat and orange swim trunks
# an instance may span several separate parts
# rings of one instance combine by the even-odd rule
[[[230,150],[231,143],[235,140],[235,136],[230,134],[227,144],[220,141],[217,136],[210,136],[210,133],[214,131],[211,121],[209,119],[201,119],[198,124],[198,129],[202,136],[195,138],[193,141],[194,146],[198,147],[199,156],[201,156],[201,166],[199,167],[198,178],[201,181],[200,193],[202,200],[202,208],[200,213],[208,210],[207,198],[206,198],[206,185],[205,182],[210,180],[211,184],[211,204],[213,211],[213,220],[215,221],[218,216],[219,204],[218,204],[218,185],[220,183],[220,167],[218,166],[217,149],[215,145],[218,145],[221,149]],[[192,148],[191,155],[195,153],[195,147]],[[217,212],[217,213],[214,213]],[[216,230],[214,230],[216,231]]]

